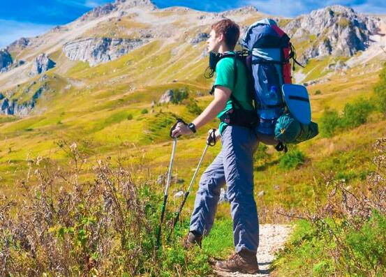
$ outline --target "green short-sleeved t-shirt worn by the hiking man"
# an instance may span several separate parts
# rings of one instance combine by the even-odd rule
[[[216,80],[214,81],[214,87],[222,86],[228,87],[232,90],[232,96],[243,106],[244,110],[253,110],[253,104],[251,96],[248,96],[246,90],[246,67],[242,61],[237,60],[237,82],[235,84],[235,70],[233,57],[226,57],[218,61],[216,65]],[[225,105],[225,109],[222,110],[218,115],[218,119],[221,118],[225,112],[232,109],[232,100],[229,98]],[[223,130],[228,124],[221,121],[218,126],[219,132],[222,134]]]

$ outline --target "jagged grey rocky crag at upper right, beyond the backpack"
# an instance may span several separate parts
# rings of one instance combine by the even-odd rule
[[[352,56],[365,50],[378,32],[380,19],[356,13],[345,6],[328,6],[296,17],[285,26],[290,37],[309,40],[302,61],[327,55]]]

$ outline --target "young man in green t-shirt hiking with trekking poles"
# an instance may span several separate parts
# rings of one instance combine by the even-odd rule
[[[258,272],[256,252],[259,233],[258,212],[253,198],[253,152],[258,142],[253,129],[248,127],[251,120],[245,117],[246,112],[254,113],[252,99],[246,89],[246,67],[237,60],[235,68],[232,57],[238,39],[239,26],[232,20],[224,19],[212,26],[207,40],[208,52],[228,54],[216,65],[214,100],[192,123],[178,123],[172,130],[172,136],[190,135],[214,117],[221,119],[216,132],[218,137],[221,135],[221,152],[202,174],[184,247],[201,246],[202,236],[209,233],[214,223],[221,188],[227,184],[235,254],[224,262],[217,262],[216,268],[254,274]],[[232,124],[240,112],[244,114],[245,124]]]

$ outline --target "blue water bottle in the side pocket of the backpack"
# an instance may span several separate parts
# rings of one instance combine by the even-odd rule
[[[277,108],[272,106],[279,104],[277,87],[272,86],[263,97],[265,103],[263,103],[264,105],[262,105],[262,109],[259,112],[260,123],[258,126],[258,132],[266,135],[273,135],[277,119]]]

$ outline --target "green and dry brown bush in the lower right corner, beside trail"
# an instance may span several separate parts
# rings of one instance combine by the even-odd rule
[[[326,179],[327,200],[302,215],[274,262],[278,276],[386,276],[386,138],[374,149],[377,170],[365,184]]]

